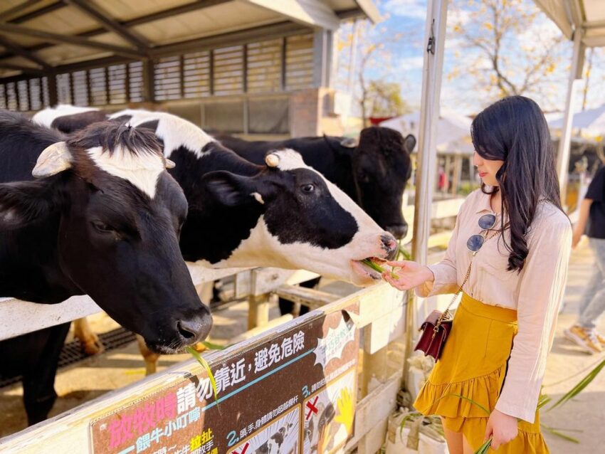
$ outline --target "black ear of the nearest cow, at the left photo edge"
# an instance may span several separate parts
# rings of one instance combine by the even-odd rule
[[[56,198],[48,181],[0,184],[0,231],[40,221],[51,213]]]

